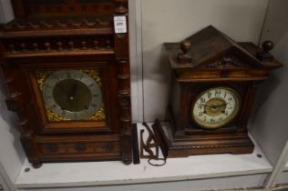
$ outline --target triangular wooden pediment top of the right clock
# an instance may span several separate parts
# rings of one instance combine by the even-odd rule
[[[252,43],[236,43],[213,27],[207,26],[181,44],[165,44],[170,65],[176,70],[272,69],[281,66],[269,54]],[[258,55],[264,56],[261,59]],[[265,57],[266,56],[266,57]]]

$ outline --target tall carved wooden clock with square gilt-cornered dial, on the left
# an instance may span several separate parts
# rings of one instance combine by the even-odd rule
[[[33,166],[132,161],[127,0],[12,0],[0,30],[7,107]]]

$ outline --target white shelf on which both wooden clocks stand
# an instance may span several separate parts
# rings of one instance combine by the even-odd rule
[[[142,128],[140,124],[138,126]],[[149,166],[146,159],[141,159],[140,165],[130,166],[110,161],[44,164],[35,169],[26,160],[15,180],[15,186],[111,186],[271,173],[273,166],[260,147],[254,144],[254,152],[250,155],[169,158],[167,164],[160,167]],[[26,172],[26,169],[30,170]]]

